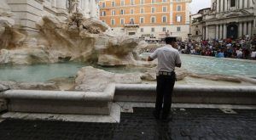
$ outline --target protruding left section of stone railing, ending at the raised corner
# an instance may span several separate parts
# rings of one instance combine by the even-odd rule
[[[104,92],[8,90],[0,98],[11,112],[109,115],[114,90],[114,84]]]

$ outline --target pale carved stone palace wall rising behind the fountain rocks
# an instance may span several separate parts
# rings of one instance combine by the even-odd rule
[[[20,31],[38,32],[36,24],[44,15],[67,19],[72,10],[79,10],[84,17],[98,18],[98,0],[4,0],[15,17],[15,25]]]

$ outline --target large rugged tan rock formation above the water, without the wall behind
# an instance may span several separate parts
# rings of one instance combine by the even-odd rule
[[[119,35],[101,20],[84,18],[73,1],[67,20],[44,16],[36,25],[38,33],[26,36],[14,27],[5,3],[0,6],[0,64],[38,64],[90,61],[101,65],[151,65],[137,61],[137,38]],[[135,51],[134,51],[135,50]]]

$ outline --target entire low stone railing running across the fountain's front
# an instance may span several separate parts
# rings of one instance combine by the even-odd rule
[[[113,102],[154,103],[156,85],[110,84],[104,92],[8,90],[0,98],[10,112],[109,115]],[[255,86],[177,85],[173,103],[256,104]]]

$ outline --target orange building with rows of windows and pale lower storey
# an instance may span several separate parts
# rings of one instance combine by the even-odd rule
[[[113,31],[160,40],[188,40],[191,0],[102,0],[100,19]]]

